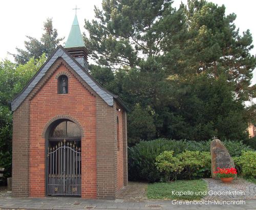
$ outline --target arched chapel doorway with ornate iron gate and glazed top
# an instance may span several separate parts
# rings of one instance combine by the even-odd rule
[[[81,195],[81,131],[60,119],[48,129],[47,195]]]

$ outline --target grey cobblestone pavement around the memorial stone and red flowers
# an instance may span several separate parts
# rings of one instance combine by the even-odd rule
[[[211,178],[203,179],[208,184],[208,194],[218,192],[230,192],[228,195],[207,195],[204,199],[209,200],[240,200],[256,199],[256,184],[238,178],[231,183],[223,183],[220,180]],[[231,194],[231,195],[230,195]],[[234,194],[234,195],[232,195]],[[240,194],[240,195],[239,195]]]

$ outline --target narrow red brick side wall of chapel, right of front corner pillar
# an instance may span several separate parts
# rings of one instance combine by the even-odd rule
[[[120,109],[120,111],[119,111]],[[119,122],[119,149],[117,150],[117,190],[123,187],[123,129],[122,129],[122,109],[117,106],[117,116]]]

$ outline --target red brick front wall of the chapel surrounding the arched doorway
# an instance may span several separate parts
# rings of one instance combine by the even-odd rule
[[[57,94],[56,75],[60,72],[69,75],[69,93],[65,95]],[[45,125],[56,115],[69,115],[83,129],[81,197],[96,198],[96,99],[64,65],[59,66],[30,102],[29,195],[46,195],[46,148],[42,133]]]

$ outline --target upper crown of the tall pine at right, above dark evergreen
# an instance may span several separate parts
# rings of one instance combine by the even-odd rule
[[[188,6],[181,5],[187,31],[184,33],[183,44],[179,44],[177,56],[176,42],[170,42],[173,34],[163,40],[165,52],[163,60],[170,74],[191,74],[206,72],[218,78],[225,74],[237,97],[243,101],[255,96],[255,85],[249,86],[252,71],[256,66],[256,58],[250,54],[253,48],[252,36],[247,30],[241,36],[233,21],[234,13],[225,15],[225,6],[218,6],[206,1],[189,0]],[[175,43],[175,44],[173,44]],[[179,42],[180,43],[180,42]],[[178,68],[173,63],[182,63]],[[182,71],[182,72],[181,72]]]

